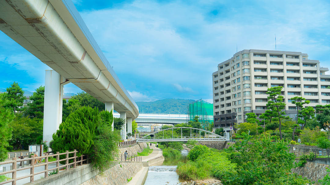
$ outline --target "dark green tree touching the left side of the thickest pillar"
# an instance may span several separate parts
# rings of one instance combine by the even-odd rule
[[[26,107],[24,107],[24,114],[29,115],[35,118],[43,118],[44,117],[44,100],[45,100],[45,86],[40,86],[36,89],[36,92],[30,96],[30,100],[32,103],[28,103]]]

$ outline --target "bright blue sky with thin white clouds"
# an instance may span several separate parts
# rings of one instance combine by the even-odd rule
[[[330,67],[328,1],[74,0],[135,101],[212,101],[217,64],[243,49],[296,51]],[[0,32],[0,88],[44,85],[50,69]],[[81,92],[73,84],[65,92]]]

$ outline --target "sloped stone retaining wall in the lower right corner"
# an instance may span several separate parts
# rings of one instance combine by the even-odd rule
[[[296,167],[291,171],[316,182],[327,174],[326,168],[330,166],[330,158],[314,158],[313,161],[308,159],[306,161],[307,163],[305,166]],[[296,162],[298,162],[298,160],[296,160]]]

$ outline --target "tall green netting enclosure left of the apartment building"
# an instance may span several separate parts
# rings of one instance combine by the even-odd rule
[[[213,104],[197,100],[187,106],[187,120],[192,121],[195,116],[199,117],[199,122],[202,123],[202,129],[206,129],[207,123],[213,121]]]

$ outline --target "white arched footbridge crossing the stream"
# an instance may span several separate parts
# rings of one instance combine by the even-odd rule
[[[204,135],[202,135],[203,131],[205,132]],[[219,136],[215,133],[203,129],[191,127],[174,127],[153,132],[142,138],[138,138],[136,142],[171,142],[188,141],[189,139],[197,141],[229,141],[229,137]]]

